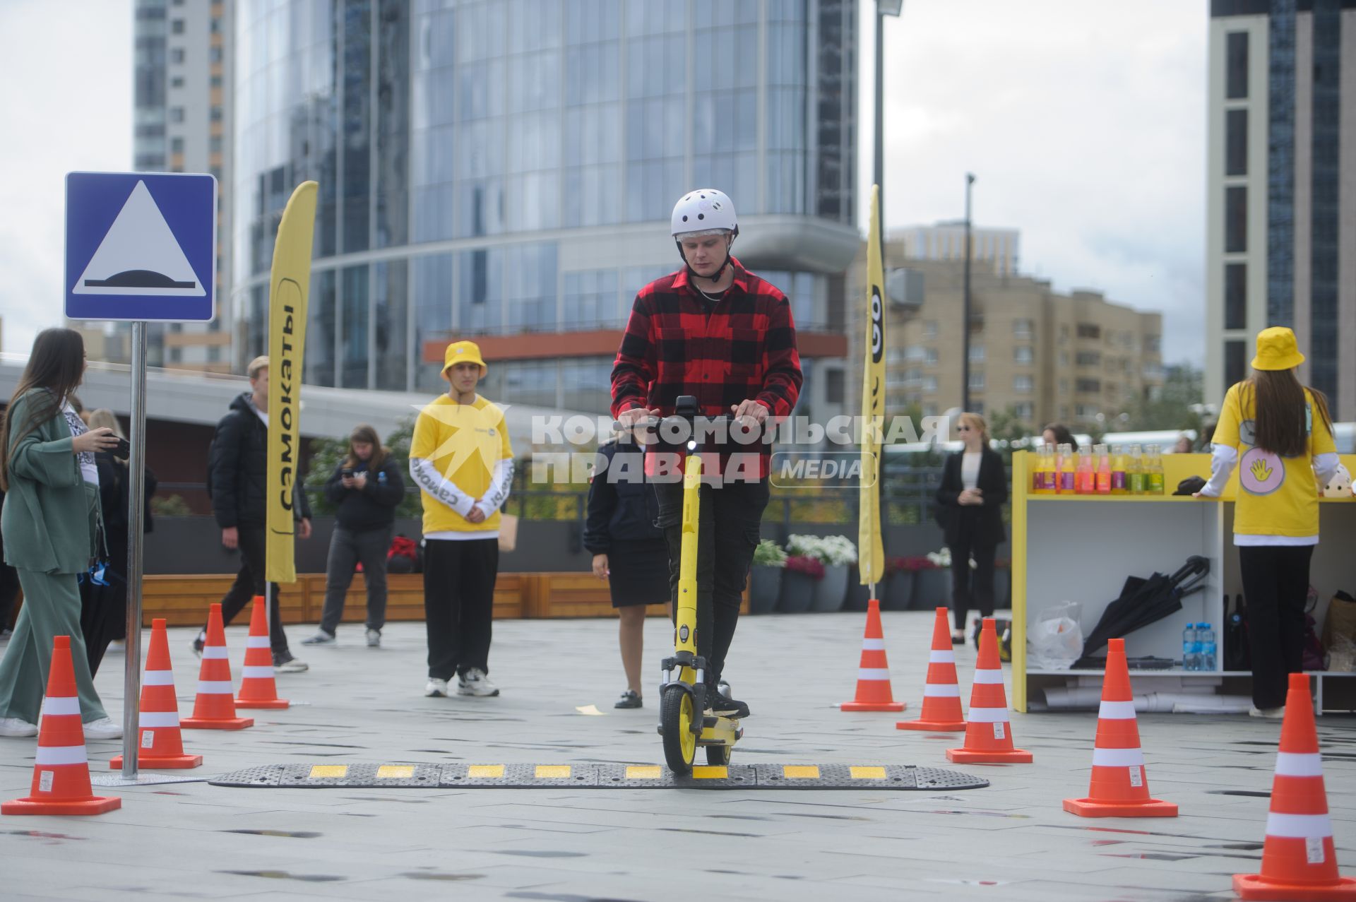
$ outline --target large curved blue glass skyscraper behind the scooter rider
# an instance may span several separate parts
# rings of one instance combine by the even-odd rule
[[[735,254],[792,298],[803,354],[841,358],[858,243],[857,12],[856,0],[243,0],[241,359],[264,349],[274,233],[305,179],[320,183],[309,384],[438,391],[442,346],[475,338],[487,396],[603,410],[635,292],[679,266],[670,209],[700,186],[734,198]]]

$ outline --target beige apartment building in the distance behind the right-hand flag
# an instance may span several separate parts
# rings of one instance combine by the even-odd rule
[[[887,304],[887,410],[917,404],[923,415],[961,406],[964,263],[904,258],[900,243],[885,250],[887,273],[906,267],[909,292]],[[865,248],[858,256],[865,281]],[[854,290],[850,296],[860,296]],[[1162,389],[1162,316],[1112,304],[1098,292],[1062,294],[1050,282],[971,267],[970,407],[993,416],[1012,411],[1032,431],[1050,422],[1112,429],[1136,399]],[[849,326],[849,378],[860,404],[861,305]]]

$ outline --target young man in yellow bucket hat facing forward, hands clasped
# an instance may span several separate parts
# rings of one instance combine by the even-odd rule
[[[419,412],[410,445],[410,476],[423,501],[431,697],[446,696],[454,675],[460,696],[499,694],[488,677],[490,635],[513,448],[503,411],[476,393],[485,372],[475,342],[449,345],[447,393]]]

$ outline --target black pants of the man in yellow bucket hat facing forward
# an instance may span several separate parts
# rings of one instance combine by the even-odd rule
[[[490,673],[498,575],[498,538],[430,538],[424,543],[430,677],[452,680],[472,667]]]

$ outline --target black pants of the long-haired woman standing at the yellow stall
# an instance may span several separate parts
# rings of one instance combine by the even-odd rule
[[[1288,674],[1304,670],[1304,601],[1313,556],[1313,545],[1238,547],[1253,652],[1253,704],[1258,708],[1284,705]]]

